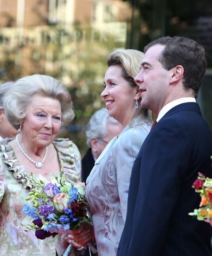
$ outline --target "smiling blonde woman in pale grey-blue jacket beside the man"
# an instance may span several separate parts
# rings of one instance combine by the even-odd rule
[[[152,125],[150,113],[140,106],[141,93],[134,81],[143,56],[137,50],[117,49],[108,57],[101,97],[109,115],[124,129],[103,150],[86,180],[93,227],[84,224],[72,231],[72,238],[69,235],[69,243],[76,247],[91,239],[99,256],[116,255],[126,220],[131,170]]]

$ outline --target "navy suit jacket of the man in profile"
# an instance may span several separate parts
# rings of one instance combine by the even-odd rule
[[[162,117],[134,162],[117,256],[212,256],[210,224],[188,216],[199,208],[198,172],[212,177],[210,155],[212,131],[197,103]]]

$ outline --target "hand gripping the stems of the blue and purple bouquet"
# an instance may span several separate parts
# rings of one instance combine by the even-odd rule
[[[70,231],[71,235],[65,237],[65,240],[76,248],[87,246],[91,240],[95,243],[93,226],[87,222],[82,222],[77,229]]]

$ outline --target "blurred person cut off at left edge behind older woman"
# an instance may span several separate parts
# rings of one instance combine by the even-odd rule
[[[13,138],[15,135],[18,134],[18,130],[15,129],[7,120],[4,106],[3,106],[3,99],[6,92],[14,85],[15,82],[9,81],[3,83],[0,86],[0,141],[4,138]]]

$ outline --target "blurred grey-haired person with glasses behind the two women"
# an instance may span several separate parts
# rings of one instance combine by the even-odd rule
[[[86,137],[89,149],[82,159],[82,182],[86,182],[94,163],[109,141],[122,131],[122,125],[108,115],[106,108],[97,110],[87,125]]]

